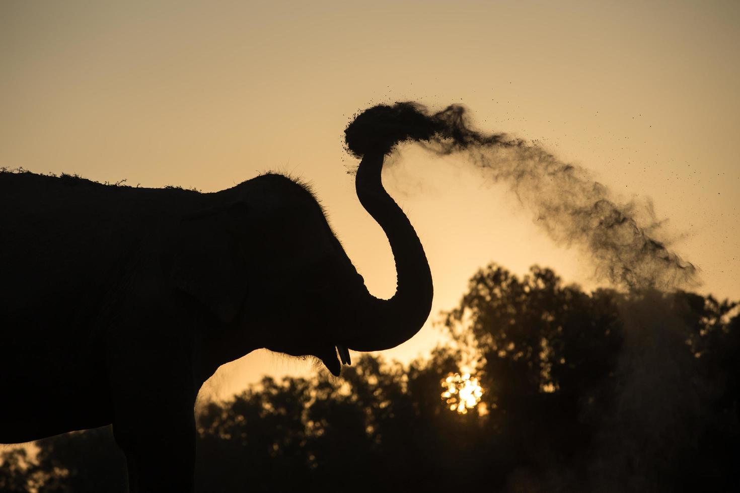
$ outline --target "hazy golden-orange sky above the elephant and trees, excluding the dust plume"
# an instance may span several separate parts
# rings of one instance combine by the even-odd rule
[[[374,103],[465,103],[480,129],[536,140],[616,197],[652,197],[699,290],[740,299],[739,21],[735,1],[3,1],[0,166],[203,191],[289,172],[390,296],[343,129]],[[584,257],[458,160],[408,149],[385,180],[428,251],[433,313],[491,260],[593,286]],[[386,353],[439,338],[430,325]],[[311,371],[253,353],[211,389]]]

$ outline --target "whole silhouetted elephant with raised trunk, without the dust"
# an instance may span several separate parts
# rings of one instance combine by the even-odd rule
[[[280,174],[201,193],[0,173],[0,443],[112,424],[129,491],[189,492],[195,398],[221,364],[266,348],[340,375],[349,350],[414,336],[431,271],[383,188],[386,151],[355,186],[391,245],[390,299]]]

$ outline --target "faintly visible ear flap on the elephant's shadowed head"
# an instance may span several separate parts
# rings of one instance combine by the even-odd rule
[[[246,205],[235,203],[186,217],[175,235],[175,288],[197,299],[224,323],[234,320],[246,298],[246,262],[238,242],[243,208]]]

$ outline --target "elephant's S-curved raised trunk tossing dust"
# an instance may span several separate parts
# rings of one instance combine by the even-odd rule
[[[368,296],[360,309],[357,337],[347,346],[379,351],[402,344],[416,334],[431,311],[434,292],[424,248],[406,214],[383,188],[383,153],[366,154],[357,169],[357,198],[383,228],[396,264],[396,293],[391,299]]]

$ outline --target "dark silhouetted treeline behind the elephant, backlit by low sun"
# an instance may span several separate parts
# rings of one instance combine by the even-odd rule
[[[197,489],[740,491],[737,311],[489,265],[443,314],[450,347],[408,366],[365,355],[342,378],[264,378],[204,405]],[[443,392],[465,365],[482,395],[463,414]],[[2,452],[0,491],[126,491],[110,428],[38,446]]]

